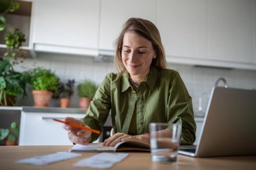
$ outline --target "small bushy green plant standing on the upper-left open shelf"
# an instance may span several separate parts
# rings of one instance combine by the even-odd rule
[[[20,56],[23,55],[22,49],[20,49],[20,46],[22,46],[22,43],[25,42],[25,34],[20,32],[20,30],[15,29],[13,32],[9,31],[5,33],[5,44],[7,47],[7,52],[5,52],[5,57],[14,57],[16,58],[16,53],[20,52]]]

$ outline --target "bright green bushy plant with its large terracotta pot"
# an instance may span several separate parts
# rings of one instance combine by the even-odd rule
[[[30,85],[33,87],[35,107],[48,107],[53,93],[58,93],[59,77],[50,69],[36,67],[28,71]]]

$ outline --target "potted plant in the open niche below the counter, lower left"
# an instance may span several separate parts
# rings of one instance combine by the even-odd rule
[[[11,128],[0,129],[0,140],[5,141],[5,145],[17,145],[20,133],[20,126],[15,122],[11,123]]]

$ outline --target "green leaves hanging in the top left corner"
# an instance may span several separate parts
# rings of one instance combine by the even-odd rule
[[[19,9],[20,4],[15,0],[1,0],[0,1],[0,31],[5,29],[6,19],[4,15],[9,11],[15,11]]]

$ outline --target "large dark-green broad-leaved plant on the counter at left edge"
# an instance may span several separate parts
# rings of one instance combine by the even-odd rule
[[[15,105],[18,95],[26,95],[29,75],[13,70],[7,58],[0,58],[0,105]]]

